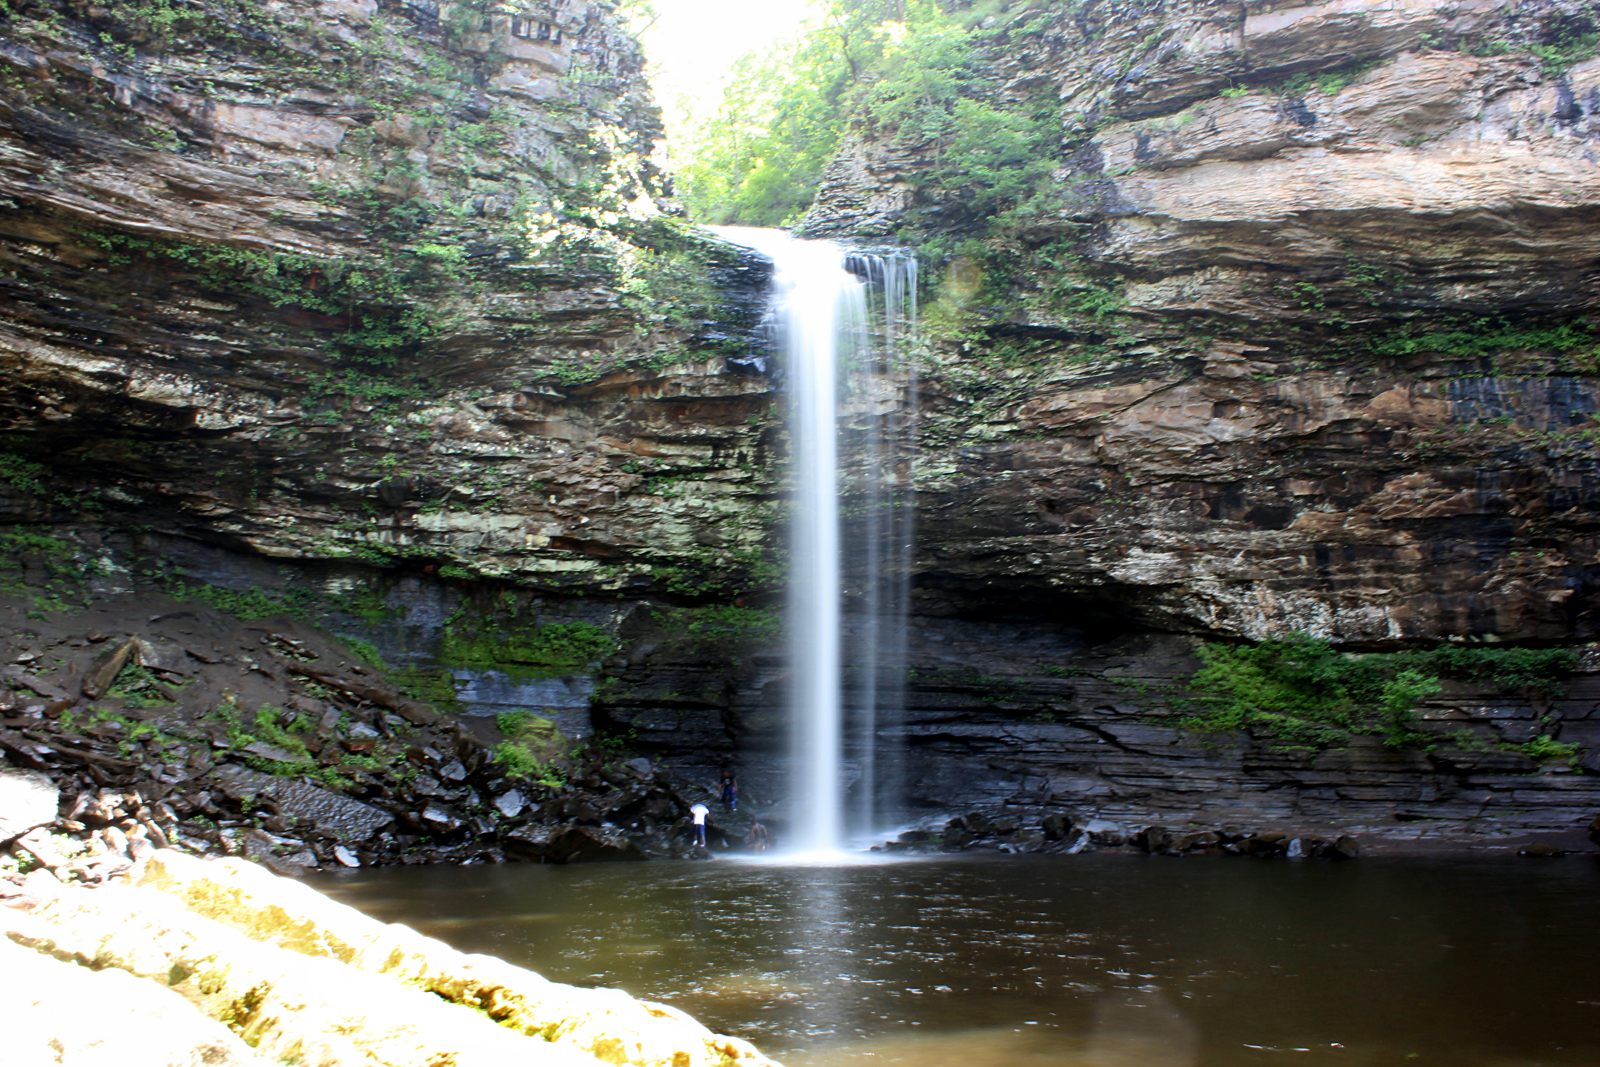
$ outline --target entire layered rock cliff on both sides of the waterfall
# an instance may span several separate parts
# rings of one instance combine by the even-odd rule
[[[808,219],[941,250],[914,800],[1395,840],[1587,824],[1587,653],[1554,697],[1446,680],[1424,725],[1470,744],[1432,752],[1203,742],[1182,689],[1202,640],[1594,640],[1592,5],[992,6],[986,91],[1053,154],[1027,210],[974,218],[939,144],[864,125]],[[70,598],[37,581],[66,557],[133,595],[264,590],[451,667],[469,710],[547,710],[701,782],[738,760],[774,798],[765,267],[670,214],[606,6],[6,11],[19,609]]]

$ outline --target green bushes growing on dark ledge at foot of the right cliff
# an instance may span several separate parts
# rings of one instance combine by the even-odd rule
[[[1360,734],[1390,747],[1426,745],[1434,737],[1418,729],[1416,704],[1440,691],[1442,677],[1550,697],[1563,691],[1565,675],[1578,665],[1578,656],[1560,648],[1355,654],[1306,633],[1256,645],[1203,645],[1198,656],[1203,665],[1189,688],[1205,710],[1182,725],[1202,733],[1248,731],[1291,750],[1326,749]],[[1544,741],[1528,755],[1570,758],[1576,752]]]

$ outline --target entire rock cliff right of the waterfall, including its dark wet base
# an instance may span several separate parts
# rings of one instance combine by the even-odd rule
[[[1597,34],[1578,3],[1010,5],[973,37],[989,91],[1058,155],[1000,224],[936,181],[947,146],[858,126],[808,229],[957,250],[925,315],[915,584],[950,621],[922,629],[907,731],[942,758],[915,765],[1178,824],[1427,837],[1547,787],[1576,803],[1526,825],[1581,824],[1565,768],[1206,752],[1160,691],[1181,633],[1595,637]],[[1555,709],[1467,688],[1426,715],[1594,752],[1592,678]]]

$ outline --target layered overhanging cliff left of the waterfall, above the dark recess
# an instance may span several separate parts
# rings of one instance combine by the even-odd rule
[[[586,592],[758,553],[763,269],[662,214],[610,10],[302,6],[11,5],[8,514]]]

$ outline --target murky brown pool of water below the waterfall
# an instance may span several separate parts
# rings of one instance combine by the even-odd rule
[[[1600,1067],[1600,864],[955,857],[318,888],[789,1067]]]

